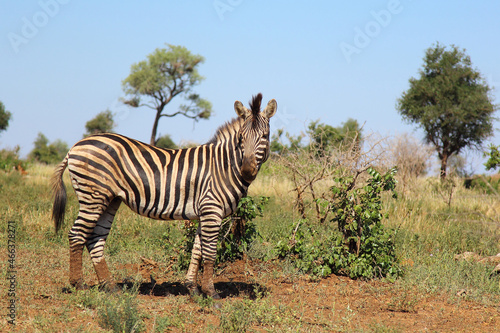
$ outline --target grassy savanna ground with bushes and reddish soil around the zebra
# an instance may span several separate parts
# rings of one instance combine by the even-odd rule
[[[466,188],[450,173],[447,182],[419,175],[414,167],[427,161],[417,154],[398,173],[390,166],[399,155],[381,149],[385,140],[366,136],[361,149],[353,138],[323,157],[313,144],[265,164],[220,234],[220,308],[190,298],[182,286],[196,225],[149,220],[127,208],[119,210],[106,249],[124,290],[71,290],[66,231],[78,211],[72,191],[64,232],[55,234],[53,166],[0,173],[2,220],[16,226],[17,328],[405,332],[425,314],[422,329],[493,331],[500,278],[479,258],[500,252],[498,183],[483,179],[486,191],[476,180]],[[327,159],[330,167],[322,164]],[[6,223],[0,233],[6,248]],[[457,259],[466,252],[474,256]],[[1,264],[6,272],[6,257]],[[88,255],[84,274],[96,283]],[[438,324],[443,316],[447,326]]]

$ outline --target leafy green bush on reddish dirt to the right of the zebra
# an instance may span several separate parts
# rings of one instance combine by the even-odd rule
[[[394,190],[396,170],[381,175],[368,169],[368,173],[371,178],[362,188],[355,188],[351,177],[335,179],[329,209],[338,231],[332,224],[321,230],[319,224],[301,220],[288,241],[278,242],[278,256],[292,257],[297,268],[319,276],[336,273],[370,279],[401,275],[395,233],[381,223],[381,193]]]

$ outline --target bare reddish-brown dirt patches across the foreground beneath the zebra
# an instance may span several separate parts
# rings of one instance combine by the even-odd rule
[[[176,311],[177,315],[181,314],[182,320],[185,321],[183,326],[171,327],[169,331],[206,332],[206,327],[219,327],[220,310],[213,307],[203,308],[190,301],[182,281],[172,280],[172,277],[159,273],[154,262],[128,264],[119,269],[131,276],[139,273],[144,277],[144,281],[149,281],[142,282],[139,288],[138,299],[142,313],[168,316],[172,311]],[[311,279],[307,276],[276,275],[275,272],[273,274],[276,269],[279,268],[272,262],[248,260],[220,267],[215,286],[222,300],[217,302],[224,305],[225,302],[244,298],[255,299],[255,292],[260,292],[268,304],[288,309],[286,315],[295,321],[292,331],[297,332],[500,331],[500,306],[484,306],[468,300],[466,291],[455,296],[435,293],[425,295],[418,291],[402,291],[402,288],[395,288],[394,284],[380,280],[360,281],[334,275],[326,279]],[[151,275],[162,278],[151,280]],[[127,283],[130,284],[127,280],[120,282],[121,285]],[[73,327],[78,330],[82,327],[88,328],[85,331],[101,330],[95,313],[83,307],[75,307],[67,301],[69,296],[62,291],[59,295],[50,295],[51,289],[64,289],[61,280],[41,277],[36,284],[46,284],[48,292],[38,291],[37,295],[30,297],[30,306],[26,307],[19,318],[19,331],[43,332],[55,329],[60,332],[73,332]],[[34,289],[38,290],[36,287]],[[25,297],[21,297],[21,303],[23,298]],[[66,325],[63,322],[54,326],[40,319],[43,317],[50,321],[51,316],[62,315],[64,311],[57,308],[56,303],[64,301],[68,302],[71,308],[67,310],[69,314],[67,311],[64,314],[71,318],[71,324]],[[153,332],[155,323],[152,316],[144,322],[146,332]],[[9,328],[7,325],[2,327]],[[287,325],[286,331],[289,330],[290,324]],[[256,325],[249,331],[283,330]]]

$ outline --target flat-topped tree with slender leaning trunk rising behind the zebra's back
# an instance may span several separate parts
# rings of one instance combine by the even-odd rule
[[[192,88],[204,79],[197,69],[203,61],[202,56],[191,54],[184,46],[167,44],[167,48],[158,48],[147,56],[147,60],[132,65],[130,75],[122,82],[129,97],[123,102],[156,111],[151,130],[152,145],[156,143],[161,117],[183,115],[195,121],[210,117],[211,103],[192,92]],[[180,105],[176,111],[164,112],[167,104],[178,95],[183,95],[187,104]]]

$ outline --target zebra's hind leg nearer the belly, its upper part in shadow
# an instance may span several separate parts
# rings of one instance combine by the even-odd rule
[[[106,244],[106,238],[109,235],[111,224],[113,223],[113,219],[115,218],[116,211],[120,207],[120,204],[121,201],[118,198],[115,198],[109,204],[106,211],[99,217],[99,220],[97,220],[94,230],[86,243],[99,284],[110,289],[114,288],[114,282],[111,279],[106,260],[104,260],[104,245]]]

